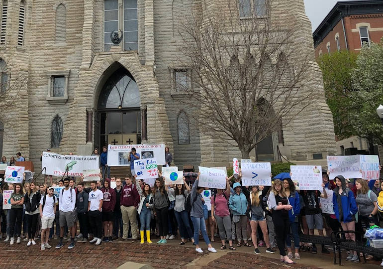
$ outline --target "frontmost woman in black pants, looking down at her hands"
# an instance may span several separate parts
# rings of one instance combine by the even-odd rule
[[[270,209],[273,210],[272,216],[275,231],[277,233],[277,244],[281,255],[281,262],[294,264],[294,262],[287,257],[285,251],[287,234],[290,231],[288,211],[292,209],[292,206],[289,204],[281,180],[276,179],[274,181],[274,184],[270,189],[269,201]]]

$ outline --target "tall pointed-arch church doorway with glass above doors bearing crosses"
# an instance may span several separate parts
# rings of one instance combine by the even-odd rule
[[[102,86],[95,121],[99,147],[141,143],[140,93],[124,67],[114,71]]]

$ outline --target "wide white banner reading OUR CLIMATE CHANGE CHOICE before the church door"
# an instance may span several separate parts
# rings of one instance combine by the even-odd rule
[[[141,159],[157,160],[157,164],[164,165],[165,144],[139,145],[108,145],[108,166],[129,166],[129,155],[134,147]]]

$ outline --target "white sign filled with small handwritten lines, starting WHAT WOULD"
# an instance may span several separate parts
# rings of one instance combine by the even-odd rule
[[[290,165],[291,180],[297,181],[300,190],[319,190],[322,187],[322,166]]]

